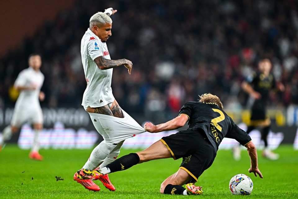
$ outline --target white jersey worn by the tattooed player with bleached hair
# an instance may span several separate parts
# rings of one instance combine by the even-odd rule
[[[93,61],[103,56],[111,59],[106,43],[88,28],[81,41],[81,57],[87,81],[87,88],[83,95],[84,107],[101,107],[114,101],[111,83],[113,68],[101,70]]]

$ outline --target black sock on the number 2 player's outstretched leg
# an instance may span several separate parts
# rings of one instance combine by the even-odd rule
[[[116,159],[110,164],[106,165],[111,170],[111,173],[116,171],[121,171],[125,169],[129,169],[133,165],[138,164],[140,161],[140,157],[136,153],[130,153],[128,155],[124,155],[121,158]]]

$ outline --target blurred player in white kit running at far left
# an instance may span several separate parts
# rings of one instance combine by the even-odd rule
[[[11,139],[21,125],[28,122],[33,124],[34,140],[29,157],[34,160],[43,160],[39,154],[39,135],[43,129],[43,112],[39,100],[44,100],[44,93],[40,91],[43,86],[44,75],[40,72],[41,57],[38,54],[31,54],[28,60],[29,67],[21,71],[18,75],[14,88],[20,91],[16,101],[15,109],[11,119],[11,124],[2,132],[1,147],[6,141]]]

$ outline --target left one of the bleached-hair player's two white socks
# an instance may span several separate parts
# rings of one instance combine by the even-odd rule
[[[98,165],[106,159],[107,155],[109,155],[115,147],[116,145],[102,141],[93,149],[89,159],[87,160],[82,169],[96,169]]]

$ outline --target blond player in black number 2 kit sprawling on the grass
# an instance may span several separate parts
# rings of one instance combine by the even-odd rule
[[[263,178],[258,169],[258,157],[251,137],[241,130],[223,111],[223,105],[216,95],[203,94],[199,102],[187,102],[181,108],[178,117],[159,125],[145,123],[144,129],[151,133],[169,131],[183,127],[188,121],[188,129],[162,137],[147,149],[124,155],[106,167],[98,170],[80,170],[81,179],[97,180],[104,174],[129,169],[135,164],[150,160],[173,158],[182,159],[178,171],[169,176],[160,186],[163,194],[201,194],[201,187],[196,187],[199,176],[214,161],[218,146],[224,137],[236,139],[248,150],[251,159],[249,173]],[[182,185],[186,184],[185,187]]]

